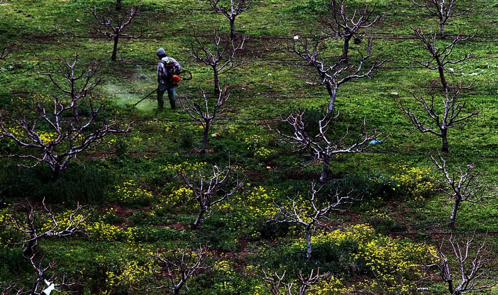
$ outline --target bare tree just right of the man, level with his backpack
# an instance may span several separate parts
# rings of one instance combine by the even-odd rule
[[[185,53],[195,61],[212,68],[215,94],[219,94],[221,91],[220,75],[249,61],[247,56],[241,55],[241,51],[246,49],[246,38],[243,37],[237,44],[235,40],[223,42],[222,37],[218,35],[216,30],[213,32],[213,43],[211,44],[203,42],[195,33],[194,37],[196,42],[190,43],[190,49],[186,50]]]

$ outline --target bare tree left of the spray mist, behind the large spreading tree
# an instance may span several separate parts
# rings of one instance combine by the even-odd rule
[[[104,84],[102,77],[98,76],[100,66],[97,61],[92,61],[78,69],[76,67],[78,57],[78,54],[75,54],[73,61],[60,58],[59,70],[38,73],[50,78],[57,89],[69,96],[76,119],[79,118],[78,100],[96,93],[98,88]]]

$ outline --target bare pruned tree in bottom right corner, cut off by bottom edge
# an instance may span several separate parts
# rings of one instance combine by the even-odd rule
[[[498,284],[497,277],[492,273],[494,270],[491,263],[494,255],[485,247],[487,236],[475,252],[472,250],[474,238],[475,233],[461,247],[452,235],[448,240],[451,246],[449,253],[443,249],[444,240],[438,246],[437,252],[428,251],[435,262],[424,265],[429,270],[436,270],[432,276],[440,276],[448,284],[450,295],[474,294]]]

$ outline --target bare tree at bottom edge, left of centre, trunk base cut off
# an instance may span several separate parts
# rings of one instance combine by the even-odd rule
[[[209,271],[214,264],[206,264],[205,257],[208,253],[207,247],[199,245],[199,250],[194,251],[185,248],[178,248],[167,256],[159,249],[156,250],[155,257],[163,267],[163,274],[168,279],[168,285],[162,285],[153,289],[169,288],[173,290],[174,295],[179,295],[183,286],[186,287],[187,281],[198,274]],[[188,290],[188,288],[187,288]]]

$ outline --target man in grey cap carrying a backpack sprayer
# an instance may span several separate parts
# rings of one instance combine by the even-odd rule
[[[157,57],[161,60],[157,64],[157,109],[163,109],[164,100],[162,98],[166,91],[168,91],[171,109],[175,109],[175,87],[172,85],[171,76],[178,75],[182,68],[174,58],[167,57],[162,48],[157,50]]]

